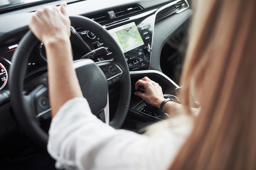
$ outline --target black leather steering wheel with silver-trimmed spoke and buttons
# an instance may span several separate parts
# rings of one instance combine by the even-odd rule
[[[70,20],[72,26],[93,31],[104,44],[108,44],[109,50],[114,54],[111,60],[95,63],[90,59],[81,59],[74,61],[73,66],[83,96],[88,100],[92,113],[98,115],[104,112],[106,123],[119,129],[126,118],[131,94],[130,73],[124,54],[108,31],[97,22],[83,16],[70,16]],[[38,39],[28,31],[12,57],[9,89],[11,105],[18,125],[39,146],[46,148],[48,134],[41,128],[40,119],[49,115],[51,111],[47,73],[39,78],[38,85],[29,94],[23,92],[27,61],[35,44],[38,44]],[[108,85],[117,81],[120,84],[119,101],[115,116],[109,120]]]

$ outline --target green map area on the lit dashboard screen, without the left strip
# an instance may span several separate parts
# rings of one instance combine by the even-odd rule
[[[144,44],[136,25],[116,31],[116,34],[124,52]]]

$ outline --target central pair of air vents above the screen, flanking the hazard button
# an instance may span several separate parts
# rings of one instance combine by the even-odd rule
[[[142,7],[140,7],[139,5],[132,5],[132,6],[113,9],[113,10],[110,9],[108,11],[114,11],[116,18],[122,18],[122,17],[129,17],[131,14],[137,13],[141,10],[142,10]],[[114,20],[114,19],[110,19],[107,11],[90,15],[87,17],[102,25],[107,24],[108,22],[112,22],[112,20]]]

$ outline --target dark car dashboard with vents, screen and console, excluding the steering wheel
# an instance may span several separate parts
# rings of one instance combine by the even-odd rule
[[[187,0],[66,0],[68,15],[81,15],[98,22],[106,28],[124,53],[132,83],[130,107],[126,122],[122,128],[137,129],[137,123],[158,121],[162,119],[151,111],[144,109],[145,103],[133,95],[135,82],[149,76],[157,81],[166,94],[175,95],[178,83],[166,75],[164,54],[171,54],[173,39],[180,37],[180,30],[186,28],[192,11]],[[0,12],[0,144],[3,154],[10,152],[15,140],[20,140],[26,133],[20,129],[10,102],[9,79],[13,52],[18,48],[20,39],[29,31],[29,19],[36,9],[45,5],[59,5],[62,1],[50,1]],[[109,42],[87,30],[71,26],[72,54],[74,61],[92,59],[94,62],[108,61],[114,57]],[[176,41],[175,41],[176,43]],[[175,44],[174,43],[174,44]],[[178,44],[178,43],[176,43]],[[44,44],[38,41],[31,44],[33,50],[27,63],[24,93],[34,88],[33,80],[47,72],[47,56]],[[167,49],[167,50],[166,50]],[[22,57],[22,56],[20,56]],[[111,68],[103,70],[109,85],[110,104],[118,95],[118,79],[111,77]],[[115,69],[115,68],[113,68]],[[14,151],[13,151],[14,152]],[[4,156],[1,156],[4,157]]]

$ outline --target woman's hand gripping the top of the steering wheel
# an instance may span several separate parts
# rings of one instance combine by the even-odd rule
[[[58,39],[69,39],[70,19],[66,13],[66,3],[60,7],[48,6],[36,11],[29,22],[29,29],[43,43]]]

